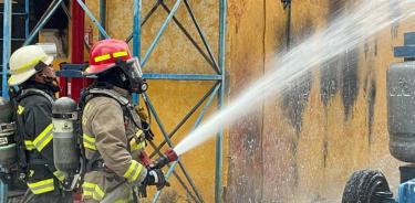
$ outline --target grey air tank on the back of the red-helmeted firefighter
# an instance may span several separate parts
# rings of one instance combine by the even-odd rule
[[[52,106],[53,161],[58,170],[66,173],[74,173],[80,167],[80,152],[74,129],[76,119],[75,100],[62,97],[54,101]]]

